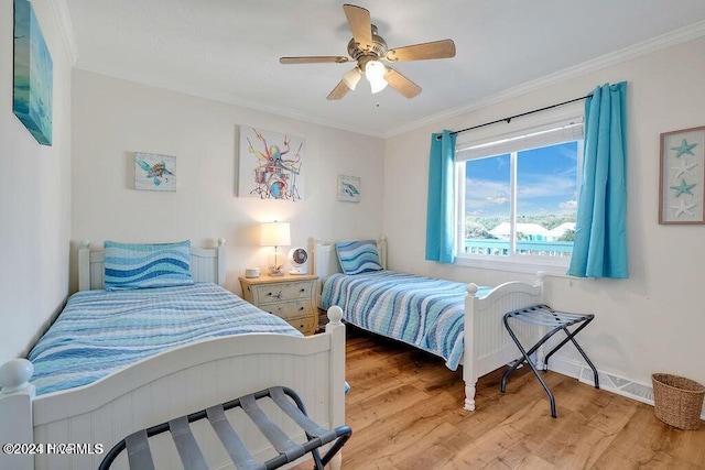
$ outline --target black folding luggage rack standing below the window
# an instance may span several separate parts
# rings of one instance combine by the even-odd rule
[[[547,328],[549,332],[545,334],[543,338],[541,338],[529,350],[525,350],[524,347],[519,341],[519,338],[517,338],[517,335],[514,334],[514,331],[512,330],[509,324],[510,318],[517,321],[522,321],[524,324],[538,325],[538,326]],[[546,370],[549,367],[549,359],[551,358],[551,356],[553,356],[553,353],[556,352],[558,349],[561,349],[565,343],[571,341],[573,342],[575,348],[578,350],[581,356],[583,356],[583,359],[585,359],[585,362],[587,362],[587,364],[593,370],[593,374],[595,375],[595,389],[599,389],[599,379],[597,376],[597,369],[595,369],[595,365],[593,365],[593,362],[589,360],[585,351],[583,351],[583,348],[581,348],[581,346],[575,340],[575,336],[578,332],[581,332],[583,328],[585,328],[590,321],[593,321],[593,318],[595,318],[595,315],[593,314],[570,314],[567,311],[556,311],[551,307],[549,307],[547,305],[535,305],[533,307],[521,308],[519,310],[509,311],[505,314],[505,318],[503,318],[505,328],[507,328],[509,336],[511,336],[511,339],[517,345],[517,348],[519,348],[519,351],[521,351],[522,357],[513,361],[511,367],[502,375],[501,392],[505,393],[505,391],[507,390],[507,379],[509,378],[509,375],[513,371],[516,371],[517,368],[523,361],[525,361],[531,368],[531,370],[533,371],[533,374],[536,376],[536,379],[539,379],[539,382],[541,382],[541,385],[543,385],[543,390],[545,390],[546,394],[549,395],[549,401],[551,402],[551,416],[554,418],[556,417],[555,397],[553,396],[551,389],[549,389],[549,385],[545,383],[545,381],[539,373],[536,365],[531,360],[531,354],[536,352],[539,348],[541,348],[553,335],[555,335],[561,330],[565,332],[566,338],[563,341],[561,341],[556,347],[554,347],[545,356],[543,360],[544,370]],[[568,327],[572,327],[572,326],[576,326],[576,328],[573,329],[573,331],[568,330]]]

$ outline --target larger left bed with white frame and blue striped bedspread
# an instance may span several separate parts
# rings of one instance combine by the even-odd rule
[[[79,249],[80,292],[31,351],[34,375],[25,360],[0,368],[0,441],[44,447],[0,453],[0,468],[95,469],[133,431],[275,385],[296,391],[323,427],[345,424],[339,309],[329,311],[325,334],[303,337],[223,287],[223,241],[188,252],[186,270],[195,283],[176,276],[172,284],[185,285],[109,292],[106,273],[113,285],[126,277],[106,270],[102,251],[87,243]],[[174,263],[184,269],[183,260]],[[276,455],[245,416],[229,418],[253,458]],[[305,440],[301,428],[281,419],[294,440]],[[192,427],[210,468],[234,468],[207,425]],[[58,445],[52,455],[50,444]],[[57,453],[76,445],[82,453]],[[150,445],[156,468],[181,467],[167,437]],[[113,468],[127,468],[124,452]]]

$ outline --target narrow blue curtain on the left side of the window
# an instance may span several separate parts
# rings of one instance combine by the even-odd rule
[[[431,135],[426,260],[442,263],[455,260],[455,136],[448,130]]]

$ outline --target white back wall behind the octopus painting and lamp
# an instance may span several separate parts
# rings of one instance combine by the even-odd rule
[[[208,244],[223,237],[227,286],[239,293],[246,267],[265,271],[271,249],[257,245],[258,222],[291,222],[292,243],[303,247],[312,237],[381,232],[381,139],[80,69],[73,86],[72,291],[83,239],[101,247],[106,239]],[[237,197],[238,124],[304,138],[304,200]],[[134,152],[175,155],[176,192],[132,189]],[[361,178],[359,204],[337,201],[339,174]]]

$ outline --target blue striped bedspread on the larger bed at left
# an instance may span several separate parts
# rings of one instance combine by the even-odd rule
[[[248,332],[302,336],[210,283],[78,292],[30,352],[30,382],[37,395],[67,390],[182,345]]]

